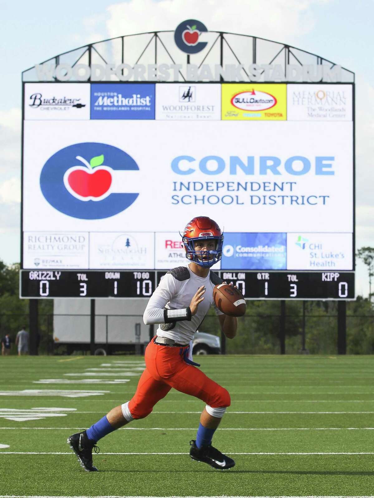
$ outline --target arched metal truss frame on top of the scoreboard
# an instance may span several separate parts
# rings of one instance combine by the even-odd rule
[[[190,56],[184,54],[181,50],[178,49],[177,55],[172,55],[172,51],[175,50],[175,42],[174,36],[172,37],[172,44],[170,43],[170,33],[174,33],[174,31],[150,31],[145,33],[137,33],[133,35],[123,35],[115,38],[108,38],[106,40],[102,40],[95,43],[90,43],[88,45],[83,45],[74,50],[70,50],[67,52],[63,52],[59,55],[56,55],[41,64],[54,64],[55,66],[61,64],[63,62],[64,57],[72,56],[71,66],[74,67],[76,64],[88,64],[91,67],[93,57],[98,57],[103,64],[113,63],[113,60],[108,61],[104,54],[105,48],[108,48],[110,43],[120,42],[120,50],[117,51],[115,58],[117,60],[114,61],[116,65],[126,63],[127,54],[133,50],[132,47],[139,40],[140,36],[149,35],[149,39],[146,39],[145,43],[140,43],[141,48],[137,48],[138,57],[136,59],[135,64],[139,64],[144,54],[147,53],[148,63],[153,64],[183,64],[183,67],[186,67],[185,64],[192,63],[191,59],[193,58],[193,62],[195,62],[196,58],[198,58],[198,54]],[[324,59],[323,57],[312,54],[311,52],[307,52],[305,50],[298,49],[291,45],[275,42],[273,40],[268,40],[266,38],[260,38],[256,36],[243,35],[231,32],[224,31],[208,31],[207,34],[210,36],[210,40],[207,43],[206,48],[201,52],[203,55],[202,60],[198,60],[198,67],[200,68],[202,64],[206,63],[209,60],[210,64],[219,64],[224,66],[227,63],[232,63],[233,60],[238,65],[249,65],[249,64],[273,64],[277,61],[277,64],[281,64],[283,67],[283,72],[286,77],[286,65],[287,64],[296,64],[299,66],[304,66],[306,64],[315,64],[315,65],[327,65],[329,68],[333,68],[336,66],[335,63]],[[169,38],[166,40],[166,37]],[[235,43],[243,42],[245,44],[252,44],[251,53],[246,52],[245,58],[246,61],[243,60],[244,55],[239,54],[238,50],[232,47],[233,41]],[[264,51],[260,47],[261,43],[266,42],[267,50]],[[214,48],[218,48],[217,50],[213,50]],[[162,51],[162,53],[161,53]],[[74,54],[74,52],[77,52]],[[265,53],[268,52],[268,53]],[[213,55],[214,53],[214,55]],[[209,59],[210,57],[210,59]],[[152,62],[149,62],[152,61]],[[26,69],[22,72],[22,81],[30,82],[35,81],[35,66]],[[243,68],[244,73],[249,78],[248,73]],[[28,74],[30,73],[31,74]],[[355,73],[350,71],[349,69],[342,68],[343,83],[354,83],[355,82]],[[187,81],[186,71],[184,69],[179,70],[179,74],[181,76],[182,81]],[[71,82],[78,81],[71,79]],[[91,81],[88,79],[87,81]],[[119,81],[119,80],[118,80]],[[221,77],[221,81],[223,81]],[[264,80],[266,82],[266,80]],[[284,81],[287,83],[287,81]]]

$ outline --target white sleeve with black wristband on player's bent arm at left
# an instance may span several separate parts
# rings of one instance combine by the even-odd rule
[[[189,308],[183,310],[165,310],[166,304],[178,294],[179,281],[171,273],[167,273],[161,278],[161,281],[148,301],[147,307],[143,314],[145,325],[155,323],[170,323],[178,320],[190,320],[191,311]],[[188,313],[189,312],[189,313]]]

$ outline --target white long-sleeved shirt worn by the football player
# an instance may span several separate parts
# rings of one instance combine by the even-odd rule
[[[180,274],[174,270],[182,269]],[[215,282],[211,280],[210,271],[205,278],[195,275],[187,266],[186,268],[175,268],[161,278],[161,281],[148,301],[144,311],[143,320],[146,325],[165,324],[164,309],[187,308],[192,297],[201,285],[204,285],[204,300],[198,305],[197,312],[191,320],[177,321],[173,324],[159,325],[156,334],[159,337],[174,339],[179,344],[187,344],[193,339],[196,329],[204,319],[211,306],[214,307],[217,315],[223,313],[216,307],[213,301],[213,288]],[[218,276],[214,275],[215,279]],[[183,278],[183,279],[182,279]],[[168,330],[169,329],[169,330]]]

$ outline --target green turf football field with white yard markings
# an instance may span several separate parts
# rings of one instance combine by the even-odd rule
[[[374,495],[374,357],[198,358],[231,393],[213,439],[228,471],[190,460],[204,404],[172,390],[84,472],[66,438],[131,398],[143,359],[0,357],[0,497]]]

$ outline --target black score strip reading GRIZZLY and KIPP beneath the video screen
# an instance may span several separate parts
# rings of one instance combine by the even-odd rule
[[[149,299],[166,271],[21,270],[20,297]],[[354,299],[349,271],[217,271],[246,299]]]

